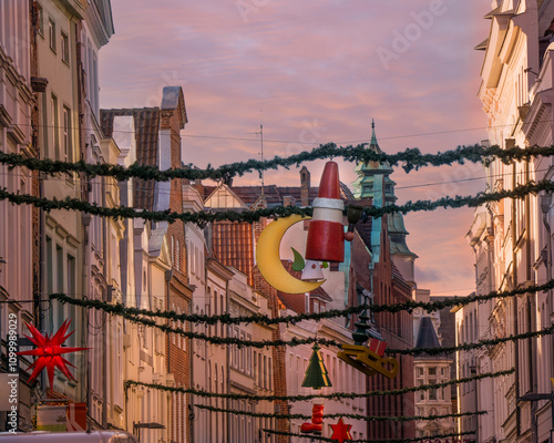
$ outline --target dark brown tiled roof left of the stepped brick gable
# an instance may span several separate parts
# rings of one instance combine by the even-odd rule
[[[132,115],[135,123],[136,163],[157,166],[160,109],[101,110],[100,124],[106,137],[113,136],[113,119],[116,115]],[[138,209],[154,209],[155,182],[137,179],[134,183],[133,206]]]

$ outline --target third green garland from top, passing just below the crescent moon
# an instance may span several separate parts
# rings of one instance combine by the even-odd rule
[[[492,300],[494,298],[510,298],[522,293],[535,293],[540,291],[545,291],[554,288],[554,279],[545,282],[544,285],[529,286],[525,288],[517,288],[511,291],[491,291],[486,295],[475,295],[475,296],[464,296],[464,297],[450,297],[445,300],[439,301],[407,301],[402,303],[394,305],[361,305],[358,307],[350,307],[343,310],[329,310],[318,313],[299,313],[296,316],[285,316],[273,318],[264,315],[255,316],[239,316],[232,317],[229,313],[224,313],[220,316],[207,316],[197,313],[177,313],[175,311],[160,311],[160,310],[148,310],[148,309],[137,309],[125,307],[121,303],[107,303],[100,300],[90,299],[75,299],[69,297],[64,293],[52,293],[50,295],[51,300],[58,300],[62,303],[69,303],[73,306],[80,306],[83,308],[94,308],[102,309],[110,313],[120,315],[129,313],[131,316],[146,316],[146,317],[157,317],[172,321],[189,321],[193,323],[206,323],[206,324],[238,324],[238,323],[259,323],[259,324],[278,324],[278,323],[290,323],[295,324],[302,320],[320,320],[324,318],[336,318],[346,317],[352,313],[359,313],[366,309],[373,312],[400,312],[406,310],[412,310],[417,308],[422,308],[427,312],[434,312],[444,308],[450,308],[454,306],[466,306],[473,302],[483,302],[486,300]]]

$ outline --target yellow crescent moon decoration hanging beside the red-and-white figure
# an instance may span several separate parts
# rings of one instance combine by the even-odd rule
[[[325,280],[298,280],[285,269],[279,256],[280,241],[287,229],[298,222],[310,218],[296,214],[279,218],[267,225],[259,235],[256,248],[258,269],[266,281],[278,291],[285,293],[305,293],[319,288],[325,282]]]

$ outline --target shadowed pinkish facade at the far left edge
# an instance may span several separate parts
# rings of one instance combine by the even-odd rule
[[[31,112],[35,96],[31,90],[31,34],[29,6],[27,2],[3,1],[0,3],[0,151],[35,156],[37,145],[32,140]],[[16,194],[33,194],[31,173],[22,167],[9,169],[0,165],[0,187]],[[0,337],[6,343],[9,316],[17,318],[17,332],[27,332],[24,322],[34,322],[33,281],[38,269],[33,262],[33,231],[31,207],[14,206],[0,202]],[[31,302],[17,302],[31,300]],[[13,317],[12,317],[13,318]],[[7,344],[0,346],[7,356]],[[27,348],[24,348],[27,349]],[[21,370],[29,360],[21,359]],[[0,364],[0,372],[7,367]],[[20,375],[19,429],[31,426],[31,405],[35,400],[27,383],[28,374]],[[0,422],[7,422],[6,412],[0,412]],[[2,427],[0,427],[2,429]]]

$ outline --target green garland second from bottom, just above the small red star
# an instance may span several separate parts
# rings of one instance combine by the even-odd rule
[[[277,413],[267,413],[267,412],[248,412],[248,411],[237,411],[234,409],[225,409],[225,408],[216,408],[208,406],[206,404],[195,404],[198,409],[205,409],[212,412],[224,412],[227,414],[236,414],[236,415],[248,415],[256,416],[261,419],[283,419],[283,420],[311,420],[311,415],[305,414],[277,414]],[[339,414],[326,414],[327,419],[351,419],[351,420],[363,420],[366,422],[416,422],[416,421],[427,421],[427,420],[441,420],[441,419],[459,419],[461,416],[473,416],[473,415],[485,415],[488,411],[475,411],[475,412],[459,412],[453,414],[444,414],[444,415],[413,415],[413,416],[392,416],[392,415],[362,415],[362,414],[349,414],[349,413],[339,413]]]

